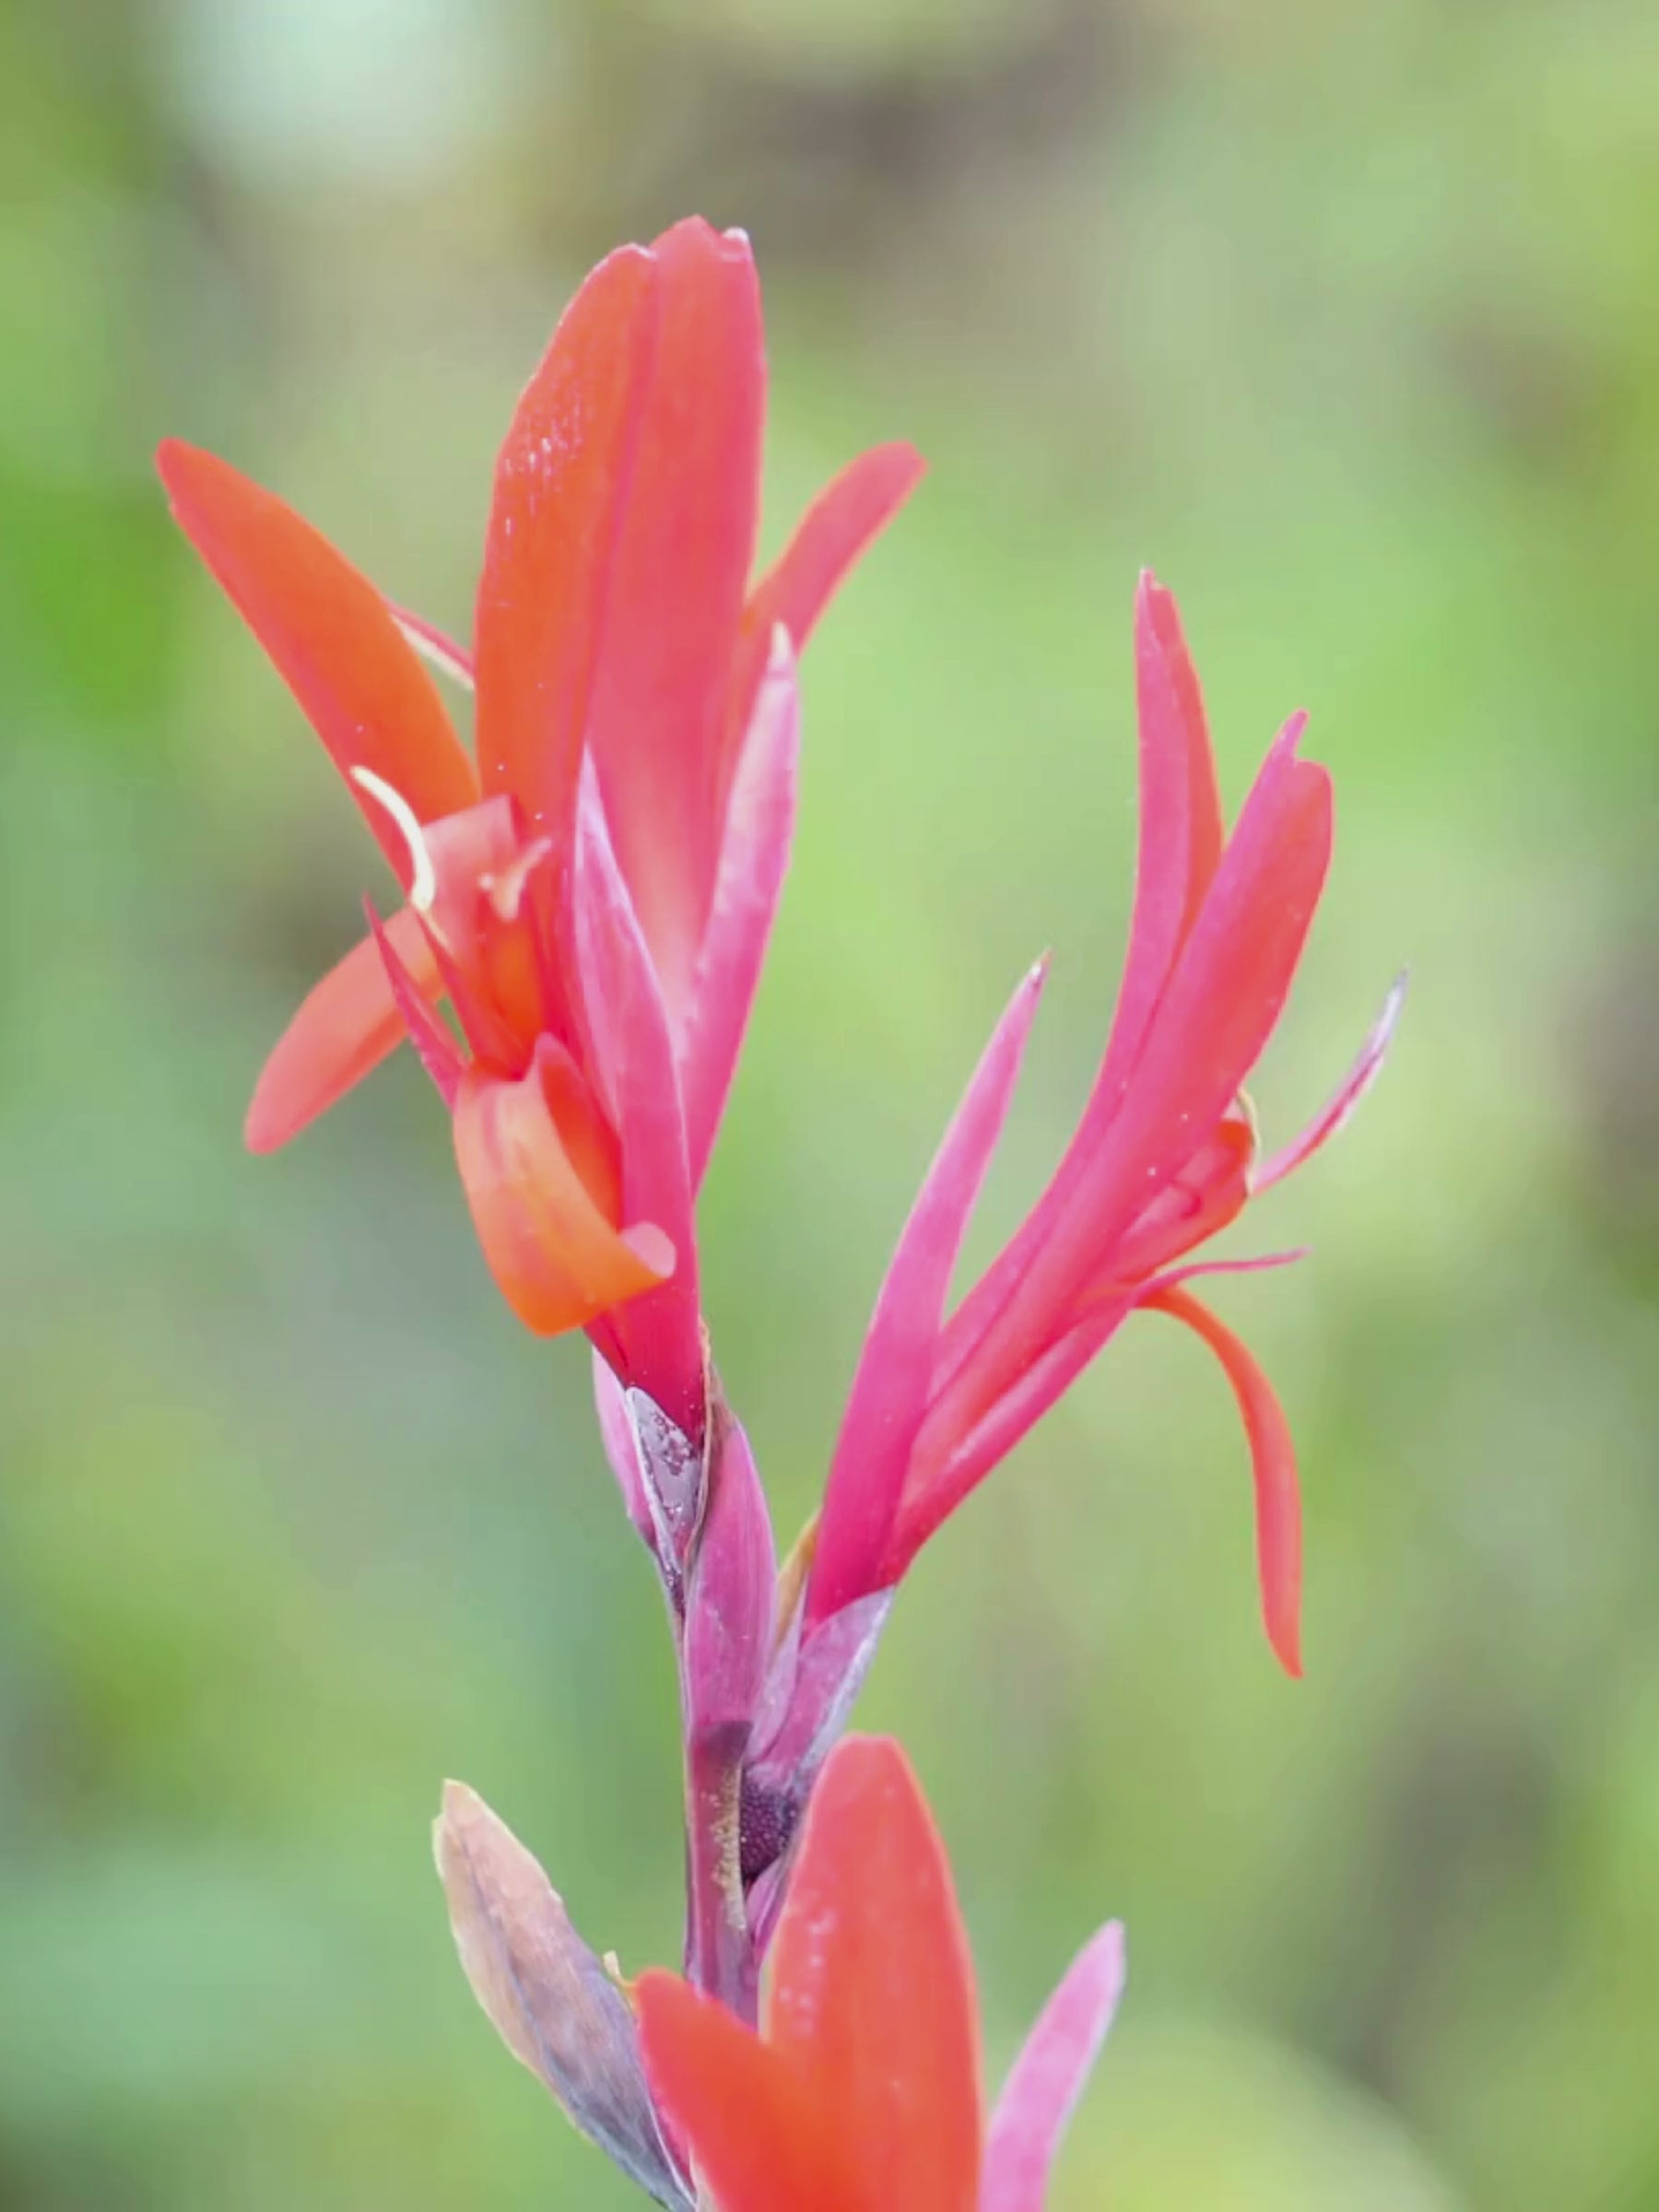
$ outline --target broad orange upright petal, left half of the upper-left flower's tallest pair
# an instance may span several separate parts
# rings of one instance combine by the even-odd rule
[[[478,772],[562,843],[657,336],[657,265],[622,246],[553,332],[495,465],[478,584]]]

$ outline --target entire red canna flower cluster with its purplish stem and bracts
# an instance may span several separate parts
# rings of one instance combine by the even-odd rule
[[[1137,883],[1099,1073],[1046,1190],[951,1303],[1033,969],[898,1239],[823,1509],[779,1562],[708,1349],[695,1203],[787,869],[796,657],[920,462],[905,445],[854,460],[757,577],[763,409],[748,239],[686,221],[613,252],[513,414],[471,650],[270,491],[161,447],[181,529],[400,887],[272,1051],[248,1144],[285,1144],[414,1046],[507,1303],[593,1345],[599,1431],[668,1599],[686,1980],[617,1984],[535,1860],[451,1785],[438,1860],[509,2046],[664,2205],[701,2188],[726,2212],[1035,2212],[1117,1997],[1117,1931],[1062,1982],[987,2132],[938,1838],[902,1754],[843,1730],[920,1546],[1137,1312],[1183,1321],[1232,1385],[1267,1637],[1298,1670],[1287,1422],[1190,1283],[1294,1256],[1197,1254],[1347,1119],[1398,989],[1329,1106],[1263,1157],[1243,1084],[1325,883],[1329,779],[1296,717],[1225,830],[1175,599],[1144,577]],[[438,679],[473,692],[471,752]]]

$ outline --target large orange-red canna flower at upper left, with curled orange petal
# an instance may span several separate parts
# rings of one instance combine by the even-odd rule
[[[473,655],[226,462],[157,456],[403,889],[276,1044],[248,1144],[407,1035],[518,1316],[586,1327],[692,1438],[692,1197],[787,863],[794,650],[920,473],[865,453],[750,584],[763,407],[741,232],[686,221],[602,261],[500,453]],[[422,661],[476,684],[476,759]]]

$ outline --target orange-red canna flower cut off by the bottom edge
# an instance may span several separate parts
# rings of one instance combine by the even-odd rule
[[[659,2110],[721,2212],[1040,2212],[1121,1978],[1108,1924],[1048,2000],[987,2130],[945,1847],[900,1747],[849,1739],[805,1818],[763,2031],[670,1973],[641,1975],[635,2000]]]

